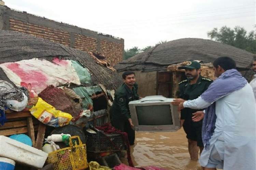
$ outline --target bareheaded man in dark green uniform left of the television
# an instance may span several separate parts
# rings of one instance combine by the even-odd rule
[[[110,109],[111,124],[128,134],[130,145],[134,145],[135,132],[131,120],[129,102],[139,100],[138,84],[136,84],[135,73],[125,71],[122,75],[124,83],[115,91],[115,99]]]

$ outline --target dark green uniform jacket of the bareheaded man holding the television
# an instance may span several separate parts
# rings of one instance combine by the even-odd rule
[[[112,121],[131,118],[128,104],[130,101],[139,100],[137,91],[138,84],[134,84],[132,89],[130,89],[125,83],[115,91],[115,99],[110,110]]]

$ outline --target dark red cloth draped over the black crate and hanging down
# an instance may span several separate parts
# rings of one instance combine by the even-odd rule
[[[130,149],[130,143],[129,143],[129,140],[128,140],[128,135],[126,132],[122,132],[118,129],[115,129],[111,123],[106,123],[106,124],[103,124],[102,126],[96,126],[96,128],[98,130],[101,130],[105,133],[119,133],[123,136],[123,139],[125,141],[125,144],[127,145],[127,159],[128,159],[128,163],[129,163],[129,166],[131,167],[134,167],[133,165],[133,162],[132,162],[132,159],[131,159],[131,149]]]

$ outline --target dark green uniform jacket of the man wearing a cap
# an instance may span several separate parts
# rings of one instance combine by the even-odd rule
[[[186,79],[179,83],[180,89],[180,98],[185,100],[194,100],[198,98],[213,82],[211,79],[204,78],[200,75],[197,82],[195,84],[189,84],[190,80]],[[192,121],[192,114],[200,111],[191,108],[184,108],[181,110],[181,119],[185,119],[185,122]],[[184,123],[185,123],[184,122]],[[201,125],[202,120],[200,122],[191,122],[194,125]]]

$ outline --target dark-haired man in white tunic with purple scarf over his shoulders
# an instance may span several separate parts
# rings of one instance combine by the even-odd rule
[[[179,105],[179,109],[206,108],[199,163],[204,170],[255,170],[256,103],[252,87],[230,57],[217,58],[213,66],[218,79],[200,97]]]

